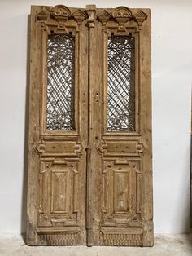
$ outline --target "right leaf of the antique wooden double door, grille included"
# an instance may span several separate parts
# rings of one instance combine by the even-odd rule
[[[97,9],[93,245],[153,245],[150,26],[149,10]]]

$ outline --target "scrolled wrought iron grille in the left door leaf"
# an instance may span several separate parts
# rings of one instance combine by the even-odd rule
[[[75,38],[53,34],[47,43],[47,130],[75,130]]]

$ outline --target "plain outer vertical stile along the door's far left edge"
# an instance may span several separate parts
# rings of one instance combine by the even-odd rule
[[[39,95],[40,69],[37,68],[37,60],[41,59],[41,29],[35,24],[37,13],[41,7],[31,8],[30,15],[30,86],[29,86],[29,130],[28,130],[28,197],[27,197],[27,223],[26,223],[26,241],[28,245],[36,245],[38,241],[37,229],[37,183],[39,179],[38,156],[34,152],[34,144],[37,143],[39,136]],[[30,128],[31,127],[31,128]]]

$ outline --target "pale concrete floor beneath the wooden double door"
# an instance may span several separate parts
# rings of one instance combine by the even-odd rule
[[[24,245],[22,236],[0,236],[0,255],[2,256],[192,256],[192,234],[155,235],[153,248],[137,247],[86,247],[86,246],[38,246]]]

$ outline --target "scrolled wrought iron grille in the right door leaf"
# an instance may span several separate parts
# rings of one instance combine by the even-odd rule
[[[107,130],[135,130],[135,41],[108,38]]]

